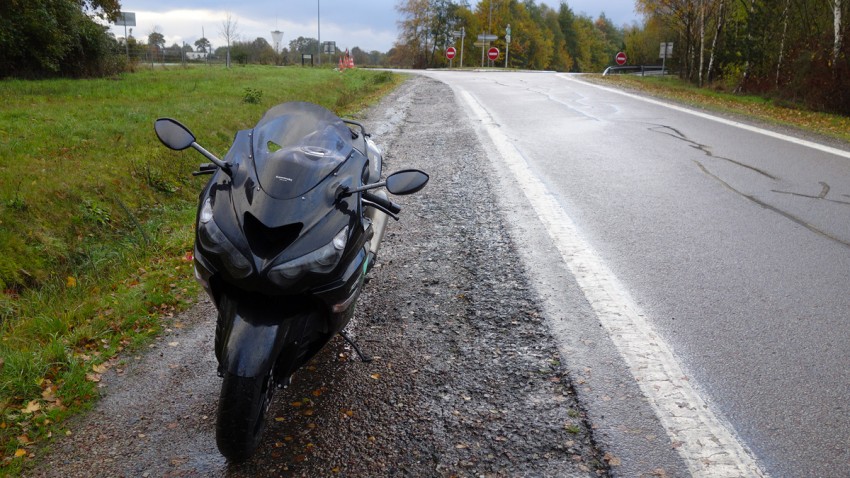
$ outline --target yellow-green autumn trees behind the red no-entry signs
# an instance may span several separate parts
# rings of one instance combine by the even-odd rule
[[[614,62],[624,46],[624,28],[604,13],[593,19],[576,15],[567,2],[557,9],[535,0],[482,0],[475,7],[467,0],[400,0],[399,38],[388,52],[390,62],[410,68],[448,66],[445,51],[464,51],[452,60],[455,66],[481,66],[483,48],[478,35],[497,39],[495,63],[509,68],[601,72]],[[511,41],[507,43],[507,26]],[[454,34],[463,29],[465,35]]]

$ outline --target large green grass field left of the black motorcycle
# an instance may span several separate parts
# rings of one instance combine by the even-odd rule
[[[208,179],[191,171],[204,161],[162,146],[156,118],[179,119],[223,156],[275,104],[353,116],[399,81],[197,67],[0,83],[0,474],[20,471],[93,403],[121,352],[198,296],[187,254]]]

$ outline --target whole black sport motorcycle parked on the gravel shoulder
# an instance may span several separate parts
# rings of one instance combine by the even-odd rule
[[[154,124],[168,148],[193,148],[212,177],[196,217],[195,278],[218,317],[222,377],[216,443],[229,460],[259,445],[274,392],[335,335],[345,334],[381,240],[405,195],[428,182],[408,169],[381,181],[366,128],[311,103],[284,103],[239,131],[224,160],[178,121]]]

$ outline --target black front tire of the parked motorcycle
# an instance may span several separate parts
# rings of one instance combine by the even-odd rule
[[[225,374],[215,429],[218,450],[225,458],[244,461],[254,454],[266,428],[274,391],[271,372],[260,377]]]

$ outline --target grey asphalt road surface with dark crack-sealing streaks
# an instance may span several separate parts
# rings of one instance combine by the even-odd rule
[[[646,431],[651,420],[634,419],[648,402],[656,415],[669,415],[661,422],[690,473],[725,473],[694,463],[705,459],[670,430],[678,411],[658,406],[663,397],[647,397],[653,387],[621,393],[634,386],[630,376],[645,381],[628,355],[647,342],[619,338],[616,322],[594,305],[599,281],[583,282],[581,263],[564,267],[571,256],[552,245],[559,239],[551,237],[558,225],[549,224],[557,222],[547,219],[550,209],[572,223],[582,252],[592,252],[590,275],[614,283],[614,301],[645,323],[649,342],[671,353],[672,375],[684,374],[674,381],[683,379],[704,401],[678,406],[706,410],[741,444],[736,453],[755,457],[756,468],[727,474],[846,473],[850,155],[580,77],[426,74],[445,82],[447,101],[459,98],[481,123],[493,168],[510,169],[504,158],[513,157],[507,162],[519,169],[507,176],[527,176],[505,179],[505,196],[540,190],[514,199],[523,204],[514,211],[516,229],[526,231],[526,249],[533,249],[526,260],[561,317],[553,328],[561,331],[565,361],[575,376],[587,375],[580,398],[597,438],[624,457],[623,469],[643,473],[654,460],[671,460],[639,463],[666,446]],[[563,298],[575,299],[576,280],[580,297],[571,306]],[[600,325],[608,332],[600,334]]]

